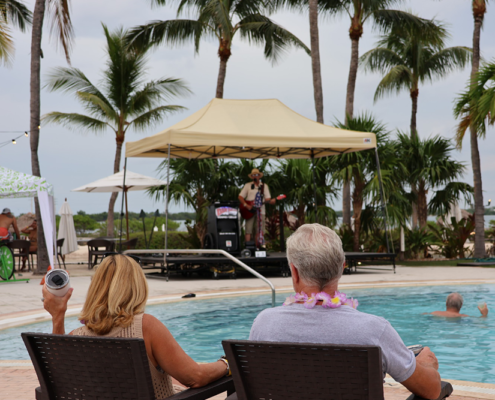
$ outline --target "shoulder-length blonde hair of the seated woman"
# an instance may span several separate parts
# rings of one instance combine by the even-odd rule
[[[124,255],[111,255],[91,280],[79,320],[105,335],[116,326],[129,326],[134,315],[144,312],[147,300],[148,283],[139,264]]]

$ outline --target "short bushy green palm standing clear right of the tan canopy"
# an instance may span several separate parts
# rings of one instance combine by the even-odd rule
[[[423,140],[399,132],[396,147],[402,164],[402,174],[397,180],[416,188],[420,228],[426,227],[429,213],[445,214],[450,204],[461,196],[470,198],[472,188],[455,181],[462,177],[466,166],[452,158],[454,146],[449,139],[433,136]],[[435,194],[428,203],[428,193],[433,190]]]

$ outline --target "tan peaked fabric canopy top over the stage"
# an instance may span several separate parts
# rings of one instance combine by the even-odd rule
[[[373,133],[312,121],[276,99],[213,99],[172,127],[128,142],[126,157],[319,158],[376,147]]]

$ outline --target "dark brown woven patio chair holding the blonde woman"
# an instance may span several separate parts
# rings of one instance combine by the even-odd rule
[[[144,340],[22,333],[38,375],[36,400],[155,400]],[[227,391],[231,377],[167,400],[205,400]]]

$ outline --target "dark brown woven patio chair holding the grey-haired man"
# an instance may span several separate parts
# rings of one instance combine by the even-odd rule
[[[383,400],[378,346],[224,340],[236,393],[227,400]],[[442,382],[444,399],[452,385]],[[407,400],[419,400],[411,395]]]

